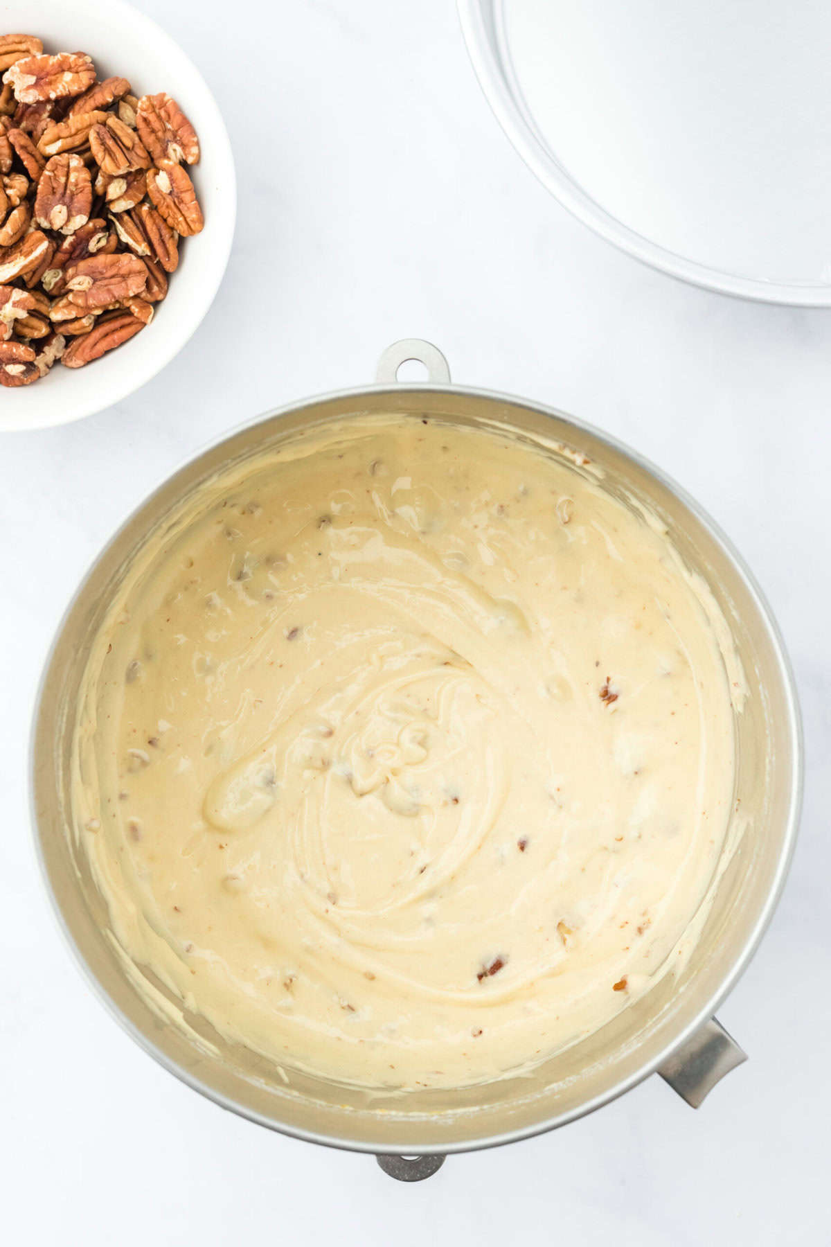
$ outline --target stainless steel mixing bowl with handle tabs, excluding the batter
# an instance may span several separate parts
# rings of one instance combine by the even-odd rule
[[[426,383],[396,382],[407,359],[426,365]],[[268,1061],[228,1044],[201,1019],[189,1021],[216,1055],[163,1023],[116,955],[107,908],[69,814],[74,713],[91,640],[113,586],[148,532],[218,469],[320,421],[373,412],[554,438],[583,451],[604,469],[612,493],[633,495],[667,524],[689,567],[706,580],[750,690],[745,710],[735,716],[735,801],[749,828],[680,978],[667,975],[601,1031],[531,1076],[406,1096],[368,1094],[292,1070],[287,1085]],[[226,1109],[298,1139],[375,1152],[392,1176],[416,1180],[435,1172],[449,1152],[563,1126],[655,1071],[698,1106],[745,1059],[713,1014],[748,964],[782,887],[797,828],[801,752],[796,695],[776,625],[750,572],[700,508],[596,429],[533,403],[451,385],[444,355],[409,339],[385,352],[376,385],[314,398],[247,425],[191,460],[127,520],[81,585],[47,662],[35,720],[32,796],[44,872],[62,927],[93,986],[133,1039]],[[146,969],[138,973],[152,981]]]

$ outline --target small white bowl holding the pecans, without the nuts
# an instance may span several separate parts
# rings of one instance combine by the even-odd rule
[[[204,79],[169,35],[125,0],[0,0],[0,34],[24,31],[46,51],[88,52],[98,77],[130,79],[136,95],[167,91],[182,105],[202,145],[188,172],[204,229],[186,239],[169,293],[152,323],[86,368],[56,364],[49,377],[0,389],[0,430],[42,429],[92,415],[154,377],[182,349],[211,307],[228,263],[237,213],[234,162],[222,113]]]

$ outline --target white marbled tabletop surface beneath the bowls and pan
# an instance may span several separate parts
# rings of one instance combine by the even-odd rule
[[[493,121],[451,0],[141,7],[224,108],[237,244],[213,309],[154,382],[87,421],[0,441],[0,1240],[827,1245],[831,313],[684,287],[573,222]],[[699,1112],[652,1079],[411,1187],[221,1112],[138,1050],[61,943],[26,802],[41,662],[116,524],[206,439],[371,380],[407,335],[435,340],[460,382],[605,428],[700,499],[770,596],[807,737],[790,883],[720,1011],[750,1061]]]

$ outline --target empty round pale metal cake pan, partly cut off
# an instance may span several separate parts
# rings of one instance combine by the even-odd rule
[[[457,6],[496,118],[528,168],[579,221],[695,286],[765,303],[831,307],[831,94],[819,69],[829,5]],[[640,72],[644,64],[654,75]],[[581,84],[576,95],[569,75]],[[554,104],[558,111],[543,106],[542,82],[562,104]],[[589,107],[581,106],[583,87]],[[698,131],[685,125],[685,108],[700,120]],[[708,123],[718,135],[711,142]]]

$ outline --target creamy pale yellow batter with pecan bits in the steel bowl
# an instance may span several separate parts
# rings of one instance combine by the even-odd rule
[[[733,708],[667,537],[568,459],[419,419],[306,434],[137,557],[77,723],[125,953],[284,1069],[498,1076],[685,955]]]

